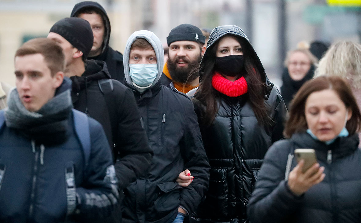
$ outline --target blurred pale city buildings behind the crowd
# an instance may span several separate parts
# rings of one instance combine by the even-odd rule
[[[81,0],[0,0],[0,79],[15,84],[16,49],[69,17]],[[338,5],[338,2],[351,3]],[[212,29],[243,29],[266,73],[280,86],[283,60],[299,41],[361,40],[360,1],[355,0],[100,0],[111,22],[110,46],[123,53],[130,34],[153,31],[166,45],[169,31],[182,23]],[[353,4],[352,4],[353,3]]]

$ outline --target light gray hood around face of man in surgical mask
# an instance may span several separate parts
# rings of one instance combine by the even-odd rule
[[[164,50],[162,43],[158,36],[156,36],[153,32],[148,30],[140,30],[134,32],[132,35],[129,36],[129,39],[127,41],[127,44],[125,45],[124,50],[124,56],[123,56],[123,66],[124,66],[124,75],[125,80],[127,83],[131,86],[133,86],[136,90],[140,90],[138,87],[134,86],[132,79],[129,75],[129,53],[130,53],[130,47],[134,43],[136,39],[143,38],[147,40],[153,47],[154,52],[156,53],[157,57],[157,68],[158,68],[158,74],[156,79],[153,81],[153,84],[149,86],[149,88],[152,88],[158,80],[160,79],[162,72],[163,72],[163,66],[164,66]],[[144,91],[144,89],[140,90],[141,92]]]

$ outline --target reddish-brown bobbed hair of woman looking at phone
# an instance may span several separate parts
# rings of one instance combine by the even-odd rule
[[[306,131],[306,100],[310,94],[327,89],[334,90],[346,108],[351,109],[351,119],[346,123],[346,129],[350,135],[360,131],[361,114],[350,86],[340,77],[320,76],[305,82],[291,101],[290,110],[288,111],[289,118],[283,131],[286,138],[291,138],[294,133]]]

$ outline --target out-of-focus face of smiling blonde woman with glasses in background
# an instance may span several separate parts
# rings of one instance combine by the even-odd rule
[[[290,56],[287,64],[290,77],[297,81],[303,79],[311,68],[311,61],[308,56],[302,52],[294,52]]]

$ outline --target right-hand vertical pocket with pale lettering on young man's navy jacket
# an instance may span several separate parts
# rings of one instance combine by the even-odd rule
[[[74,164],[72,162],[66,164],[65,168],[65,187],[66,187],[66,215],[70,215],[74,212],[76,207],[76,193],[75,193],[75,178],[74,178]]]

